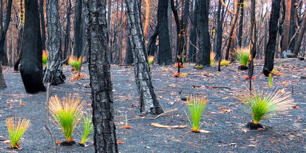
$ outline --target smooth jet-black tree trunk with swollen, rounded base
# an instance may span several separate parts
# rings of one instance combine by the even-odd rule
[[[27,93],[46,91],[43,84],[42,42],[40,35],[38,2],[25,0],[23,56],[20,74]]]

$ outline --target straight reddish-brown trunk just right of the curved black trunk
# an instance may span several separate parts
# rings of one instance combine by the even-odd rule
[[[290,28],[290,10],[291,10],[291,0],[286,0],[286,12],[285,12],[285,21],[284,21],[284,33],[283,33],[283,42],[282,42],[282,50],[288,49],[289,43],[289,28]]]

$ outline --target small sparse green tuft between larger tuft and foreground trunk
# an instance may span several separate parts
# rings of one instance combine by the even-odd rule
[[[85,141],[88,140],[88,135],[91,133],[91,131],[94,129],[94,125],[91,122],[91,115],[87,114],[84,115],[81,121],[81,124],[83,126],[83,133],[82,133],[82,139],[80,144],[84,144]]]

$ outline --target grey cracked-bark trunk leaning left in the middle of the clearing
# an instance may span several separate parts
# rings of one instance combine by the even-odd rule
[[[146,45],[140,25],[138,1],[125,0],[125,9],[128,28],[130,29],[128,35],[130,36],[135,63],[136,84],[140,95],[140,112],[161,114],[163,110],[155,95],[151,73],[149,72]],[[166,26],[168,26],[168,24],[166,24]],[[168,32],[166,34],[168,34]]]

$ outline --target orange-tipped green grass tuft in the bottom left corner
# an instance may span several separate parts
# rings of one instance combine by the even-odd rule
[[[6,118],[5,122],[7,130],[9,131],[9,137],[11,138],[11,147],[21,149],[17,143],[24,132],[30,127],[30,120],[25,118],[21,120],[21,118],[10,117]]]

